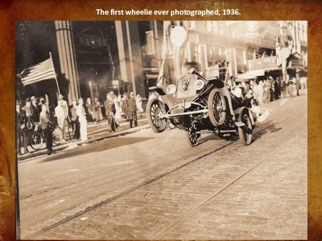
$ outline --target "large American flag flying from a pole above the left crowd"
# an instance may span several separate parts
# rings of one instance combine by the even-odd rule
[[[23,85],[33,84],[45,79],[54,79],[56,77],[52,59],[49,58],[39,64],[30,66],[21,72],[21,81]]]

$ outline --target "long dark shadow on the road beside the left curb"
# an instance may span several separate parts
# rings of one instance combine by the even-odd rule
[[[147,140],[150,140],[153,138],[148,138],[148,137],[125,137],[125,138],[115,138],[115,139],[110,139],[104,142],[100,143],[93,143],[91,145],[87,146],[79,146],[78,148],[70,149],[65,152],[57,153],[52,156],[46,157],[43,162],[49,162],[49,161],[56,161],[59,159],[64,159],[68,157],[75,157],[78,155],[85,155],[89,153],[98,153],[98,152],[103,152],[106,150],[110,150],[113,148],[121,147],[121,146],[127,146],[139,142],[144,142]],[[95,154],[94,154],[95,155]]]

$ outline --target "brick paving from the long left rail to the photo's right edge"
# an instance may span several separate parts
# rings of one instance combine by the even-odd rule
[[[306,239],[306,106],[282,115],[292,118],[252,145],[231,144],[36,238]]]

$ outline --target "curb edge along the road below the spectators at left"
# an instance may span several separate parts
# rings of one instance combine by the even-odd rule
[[[82,144],[91,144],[91,143],[95,143],[95,142],[99,142],[99,141],[103,141],[103,140],[107,140],[107,139],[111,139],[111,138],[122,137],[122,136],[126,136],[128,134],[137,133],[137,132],[141,131],[142,129],[150,129],[150,127],[149,127],[148,124],[145,124],[145,125],[141,126],[137,130],[132,130],[131,131],[131,129],[130,129],[130,130],[124,131],[122,133],[111,134],[110,136],[107,136],[107,137],[93,138],[93,139],[88,140],[88,141],[77,141],[77,142],[72,142],[72,143],[76,144],[78,147],[81,147]],[[62,145],[60,145],[60,146],[53,147],[53,150],[55,152],[62,151],[64,149],[68,148],[68,145],[69,145],[69,141],[64,143],[64,144],[62,144]],[[37,153],[32,153],[32,154],[30,154],[28,156],[18,157],[17,161],[19,163],[19,162],[27,161],[30,158],[34,158],[34,157],[38,157],[38,156],[44,156],[44,155],[47,155],[47,150],[46,149],[43,149],[42,151],[39,151]]]

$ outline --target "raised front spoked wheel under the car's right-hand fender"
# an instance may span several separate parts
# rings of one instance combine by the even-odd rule
[[[208,97],[209,118],[215,127],[221,126],[226,118],[226,103],[219,89],[211,90]]]

